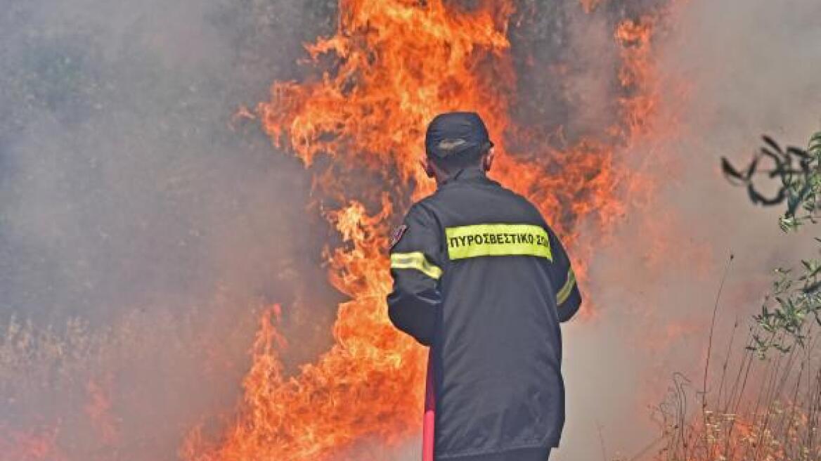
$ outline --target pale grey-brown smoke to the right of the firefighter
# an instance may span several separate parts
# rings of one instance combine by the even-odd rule
[[[602,459],[603,451],[629,459],[660,435],[649,415],[673,372],[701,388],[731,254],[711,374],[736,321],[732,354],[741,353],[772,270],[814,253],[807,232],[778,230],[780,208],[755,208],[744,189],[731,187],[719,159],[745,164],[765,134],[805,147],[821,127],[819,13],[812,0],[673,4],[655,45],[663,112],[654,130],[662,136],[621,155],[639,158],[636,167],[657,187],[591,263],[587,290],[599,317],[564,330],[568,423],[556,459]]]

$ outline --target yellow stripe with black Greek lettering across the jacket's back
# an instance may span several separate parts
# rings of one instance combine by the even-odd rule
[[[477,256],[538,256],[553,261],[548,232],[531,224],[476,224],[448,227],[447,255],[451,260]]]

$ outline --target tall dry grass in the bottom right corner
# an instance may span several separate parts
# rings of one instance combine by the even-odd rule
[[[753,335],[750,332],[750,346]],[[667,399],[658,407],[663,448],[653,459],[821,459],[819,342],[804,349],[774,351],[764,358],[749,347],[733,358],[732,340],[730,344],[720,372],[713,374],[717,378],[706,389],[696,389],[685,377],[676,376]]]

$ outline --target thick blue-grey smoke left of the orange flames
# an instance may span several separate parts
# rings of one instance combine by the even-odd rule
[[[236,403],[259,308],[291,306],[289,366],[327,345],[310,177],[232,116],[331,21],[333,2],[4,2],[0,447],[176,459]]]

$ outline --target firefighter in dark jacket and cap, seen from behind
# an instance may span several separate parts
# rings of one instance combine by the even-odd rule
[[[570,260],[539,210],[486,176],[477,114],[436,116],[425,151],[437,191],[392,234],[388,316],[430,347],[427,459],[545,461],[565,419],[559,322],[581,304]]]

